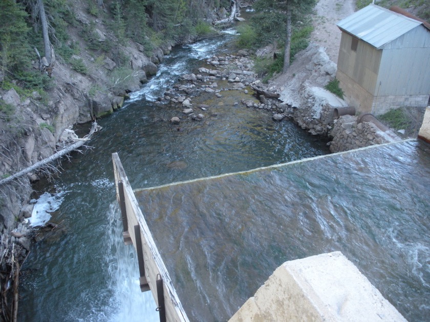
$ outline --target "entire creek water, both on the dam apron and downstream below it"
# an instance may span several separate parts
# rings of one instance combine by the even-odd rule
[[[35,243],[23,267],[20,321],[159,320],[152,294],[140,292],[136,252],[122,241],[114,152],[190,319],[226,320],[279,264],[334,250],[408,320],[430,315],[428,144],[324,156],[324,140],[233,105],[236,91],[214,101],[203,122],[178,131],[165,121],[181,111],[156,98],[232,37],[175,49],[98,122],[94,149],[38,187],[44,200],[56,198],[51,220],[63,230]],[[186,180],[194,181],[169,185]]]

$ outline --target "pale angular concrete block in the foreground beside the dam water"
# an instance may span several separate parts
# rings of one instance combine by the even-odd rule
[[[406,320],[336,251],[285,262],[229,321]]]

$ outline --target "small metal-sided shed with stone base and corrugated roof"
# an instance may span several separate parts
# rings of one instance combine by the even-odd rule
[[[348,104],[374,114],[401,106],[427,106],[429,26],[376,5],[339,21],[342,36],[336,78]]]

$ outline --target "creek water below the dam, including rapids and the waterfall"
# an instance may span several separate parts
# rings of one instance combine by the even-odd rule
[[[166,121],[181,116],[181,110],[155,104],[155,98],[214,51],[227,51],[224,44],[232,37],[174,50],[123,109],[100,120],[94,149],[75,153],[60,178],[39,188],[43,197],[34,215],[43,218],[42,210],[49,209],[51,221],[63,229],[32,247],[20,283],[20,321],[158,319],[152,295],[140,292],[134,248],[122,243],[113,152],[136,188],[328,153],[326,142],[294,124],[274,123],[265,112],[234,105],[244,98],[238,91],[216,100],[194,98],[210,105],[202,122],[173,126]]]

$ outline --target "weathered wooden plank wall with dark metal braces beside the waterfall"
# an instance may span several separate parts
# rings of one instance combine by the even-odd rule
[[[124,188],[125,210],[128,222],[128,235],[130,235],[130,238],[133,242],[133,246],[136,250],[138,249],[138,247],[136,245],[134,226],[140,226],[141,244],[145,266],[145,277],[149,285],[150,291],[154,296],[155,302],[158,306],[156,280],[157,277],[161,277],[163,279],[166,320],[189,321],[181,305],[181,302],[179,301],[179,297],[176,293],[175,287],[171,282],[169,273],[167,272],[164,262],[161,259],[157,246],[155,245],[154,239],[149,232],[149,228],[146,224],[145,218],[140,211],[139,204],[136,200],[133,189],[130,186],[130,182],[128,182],[127,175],[125,174],[124,168],[122,167],[121,161],[117,153],[112,154],[112,160],[114,165],[117,200],[118,202],[120,201],[118,183],[122,182]]]

